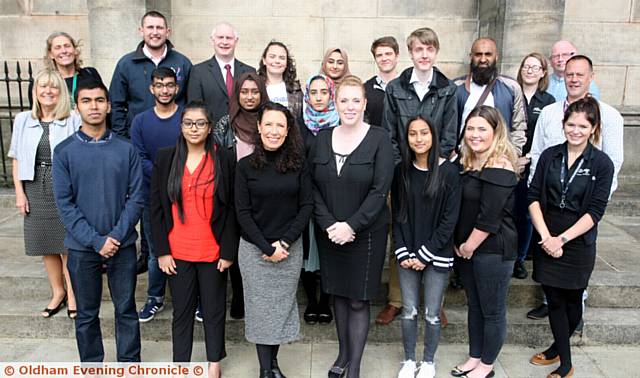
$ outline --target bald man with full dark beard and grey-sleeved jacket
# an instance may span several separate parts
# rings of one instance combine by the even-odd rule
[[[458,141],[464,134],[467,115],[479,105],[500,111],[519,152],[526,142],[527,118],[522,89],[510,77],[498,74],[498,47],[491,38],[479,38],[471,46],[471,73],[455,80],[458,90]],[[524,166],[524,164],[523,164]]]

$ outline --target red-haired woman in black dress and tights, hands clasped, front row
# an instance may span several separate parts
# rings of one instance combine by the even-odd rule
[[[369,301],[384,263],[393,176],[386,131],[363,121],[362,81],[347,76],[336,90],[340,126],[321,130],[311,154],[316,239],[323,289],[334,296],[339,352],[329,377],[360,376],[369,332]]]

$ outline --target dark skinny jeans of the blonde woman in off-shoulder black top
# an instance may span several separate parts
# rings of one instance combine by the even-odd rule
[[[478,253],[471,260],[456,260],[467,295],[469,356],[491,365],[507,337],[507,294],[513,260]]]

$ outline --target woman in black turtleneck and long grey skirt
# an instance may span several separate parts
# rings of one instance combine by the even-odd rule
[[[278,348],[300,332],[300,236],[313,210],[312,184],[300,131],[287,108],[266,103],[258,113],[258,134],[254,152],[236,168],[238,264],[245,337],[256,344],[260,377],[279,378]]]

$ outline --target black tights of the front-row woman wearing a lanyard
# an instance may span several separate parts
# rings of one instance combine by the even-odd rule
[[[560,356],[560,366],[555,370],[561,376],[571,370],[570,338],[582,319],[582,292],[584,289],[560,289],[542,285],[549,306],[549,325],[553,344],[544,351],[547,358]]]

